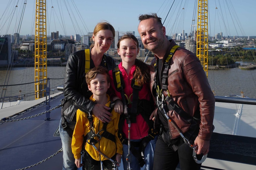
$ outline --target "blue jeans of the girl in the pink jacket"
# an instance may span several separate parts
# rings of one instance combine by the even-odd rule
[[[146,170],[152,170],[153,169],[153,163],[154,163],[154,151],[155,151],[155,147],[156,147],[156,143],[157,143],[157,136],[155,136],[155,138],[153,140],[151,140],[145,147],[145,150],[143,152],[144,155],[144,162],[146,165]],[[141,139],[139,140],[131,140],[134,142],[139,142]],[[139,147],[135,147],[135,149],[139,150]],[[123,156],[122,156],[122,160],[123,160],[123,165],[124,165],[124,169],[127,169],[127,161],[126,161],[126,157],[128,155],[128,145],[123,145]],[[131,157],[129,157],[131,160],[130,162],[130,166],[132,168],[132,170],[140,170],[140,165],[138,160],[135,158],[135,156],[130,152]]]

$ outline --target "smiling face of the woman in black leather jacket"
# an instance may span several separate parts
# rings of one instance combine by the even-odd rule
[[[95,43],[94,50],[105,53],[113,42],[113,33],[110,30],[100,30],[96,35],[92,35],[92,39]]]

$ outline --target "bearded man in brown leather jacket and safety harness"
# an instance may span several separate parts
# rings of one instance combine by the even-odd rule
[[[142,43],[155,56],[151,62],[151,91],[159,107],[151,118],[155,124],[162,124],[153,169],[175,170],[178,163],[182,170],[200,169],[188,144],[197,148],[198,155],[209,151],[215,98],[206,74],[192,52],[167,40],[157,14],[140,15],[139,20]]]

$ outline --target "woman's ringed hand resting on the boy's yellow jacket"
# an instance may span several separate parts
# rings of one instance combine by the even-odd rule
[[[110,107],[96,103],[92,109],[92,114],[104,123],[110,122],[112,114],[108,111],[109,109]]]

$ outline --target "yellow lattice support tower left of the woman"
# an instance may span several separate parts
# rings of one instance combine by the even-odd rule
[[[45,96],[47,85],[46,0],[36,0],[35,99]]]

